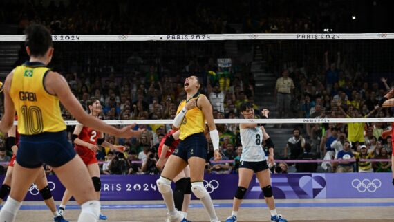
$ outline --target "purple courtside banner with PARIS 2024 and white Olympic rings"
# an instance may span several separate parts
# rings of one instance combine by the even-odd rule
[[[102,175],[102,201],[161,200],[158,175]],[[1,176],[0,181],[3,181]],[[394,198],[391,173],[272,174],[276,199]],[[48,185],[56,201],[62,200],[64,187],[56,176],[48,176]],[[212,199],[232,199],[238,187],[238,175],[205,175]],[[263,198],[259,181],[252,179],[245,199]],[[36,185],[28,190],[26,201],[41,201]]]

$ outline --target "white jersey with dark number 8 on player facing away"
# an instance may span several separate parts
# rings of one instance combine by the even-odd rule
[[[260,127],[245,128],[240,130],[242,155],[241,161],[260,162],[266,160],[261,143],[263,142],[263,131]]]

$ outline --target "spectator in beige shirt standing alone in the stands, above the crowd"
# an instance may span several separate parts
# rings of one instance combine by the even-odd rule
[[[278,118],[288,117],[289,107],[294,90],[293,80],[289,77],[289,71],[283,70],[283,77],[276,80],[274,99],[278,107]],[[281,125],[279,125],[281,127]]]

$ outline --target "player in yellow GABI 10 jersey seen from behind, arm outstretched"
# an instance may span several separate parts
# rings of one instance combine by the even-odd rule
[[[100,202],[88,169],[68,142],[59,100],[85,126],[124,138],[138,136],[140,131],[131,131],[133,126],[116,129],[85,113],[64,77],[46,68],[53,55],[49,30],[34,24],[26,28],[25,33],[30,61],[17,66],[4,84],[5,113],[0,131],[5,133],[12,127],[17,111],[20,137],[12,189],[1,208],[0,221],[15,221],[21,201],[31,183],[41,173],[43,163],[53,167],[59,180],[81,205],[78,221],[97,221]]]

